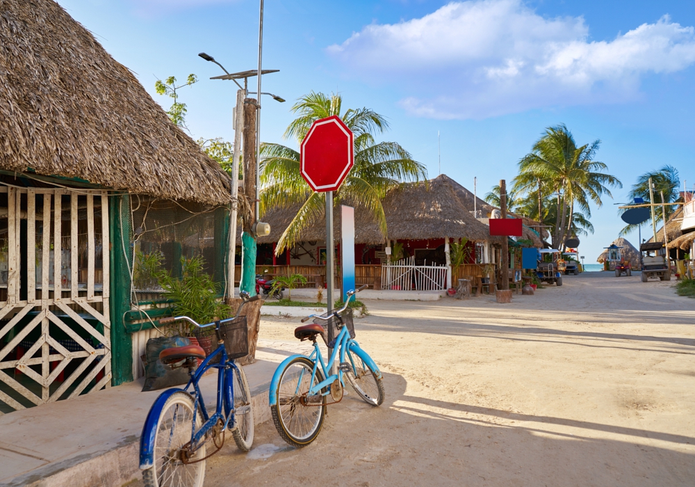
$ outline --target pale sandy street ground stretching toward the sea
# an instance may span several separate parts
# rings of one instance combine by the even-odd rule
[[[252,452],[229,441],[208,460],[205,485],[695,485],[695,300],[598,276],[509,305],[371,301],[355,328],[384,404],[348,387],[304,449],[257,426]],[[261,338],[298,324],[263,321]]]

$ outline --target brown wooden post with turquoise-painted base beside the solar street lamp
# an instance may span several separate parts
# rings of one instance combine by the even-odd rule
[[[239,290],[256,295],[256,236],[253,232],[256,199],[256,100],[244,100],[244,195],[247,205],[242,211],[241,282]]]

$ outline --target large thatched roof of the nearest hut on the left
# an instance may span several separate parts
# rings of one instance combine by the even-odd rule
[[[218,164],[54,1],[2,1],[0,74],[0,169],[229,202]]]

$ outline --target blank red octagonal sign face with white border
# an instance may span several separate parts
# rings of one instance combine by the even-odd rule
[[[313,191],[336,191],[354,164],[354,135],[338,116],[316,120],[302,141],[302,177]]]

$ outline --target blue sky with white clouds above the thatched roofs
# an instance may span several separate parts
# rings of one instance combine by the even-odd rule
[[[154,92],[157,77],[201,80],[181,90],[195,138],[233,138],[235,86],[219,68],[257,66],[257,0],[59,0]],[[318,6],[318,7],[317,7]],[[386,115],[397,141],[478,193],[512,179],[544,127],[565,123],[623,189],[592,209],[594,262],[621,227],[614,202],[637,175],[669,163],[695,184],[695,2],[487,0],[265,1],[261,139],[283,142],[291,102],[309,91]],[[286,142],[294,145],[292,141]],[[644,234],[649,230],[643,228]],[[628,237],[634,244],[637,235]]]

